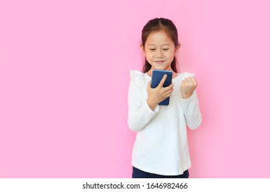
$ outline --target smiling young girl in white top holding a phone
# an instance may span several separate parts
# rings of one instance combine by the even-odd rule
[[[177,73],[175,55],[180,48],[177,28],[169,19],[152,19],[142,29],[143,73],[131,71],[128,90],[128,125],[137,132],[133,147],[133,178],[188,178],[190,154],[186,125],[201,124],[192,73]],[[153,69],[172,71],[172,84],[163,87],[166,75],[151,88]],[[168,106],[159,102],[170,97]]]

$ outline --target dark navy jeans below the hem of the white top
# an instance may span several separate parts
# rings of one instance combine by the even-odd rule
[[[183,174],[179,176],[161,176],[155,173],[148,173],[142,171],[140,169],[137,169],[136,167],[133,167],[132,173],[132,178],[188,178],[189,176],[190,173],[188,173],[188,170],[184,171]]]

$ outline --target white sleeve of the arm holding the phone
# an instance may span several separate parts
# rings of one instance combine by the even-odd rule
[[[131,71],[131,82],[128,88],[128,126],[134,132],[139,132],[157,115],[159,106],[151,110],[142,95],[141,87],[136,82]],[[142,83],[142,82],[141,82]]]

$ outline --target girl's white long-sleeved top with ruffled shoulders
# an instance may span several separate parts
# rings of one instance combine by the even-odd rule
[[[148,173],[176,176],[191,167],[186,125],[192,130],[201,125],[201,112],[196,91],[181,98],[180,86],[192,73],[179,73],[172,79],[174,89],[169,106],[151,110],[146,102],[151,77],[131,71],[128,89],[128,125],[137,132],[132,165]]]

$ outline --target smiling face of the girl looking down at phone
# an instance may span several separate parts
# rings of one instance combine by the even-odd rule
[[[170,70],[170,64],[177,51],[172,39],[165,32],[150,33],[146,39],[145,46],[142,47],[146,60],[151,64],[150,71],[153,69]]]

